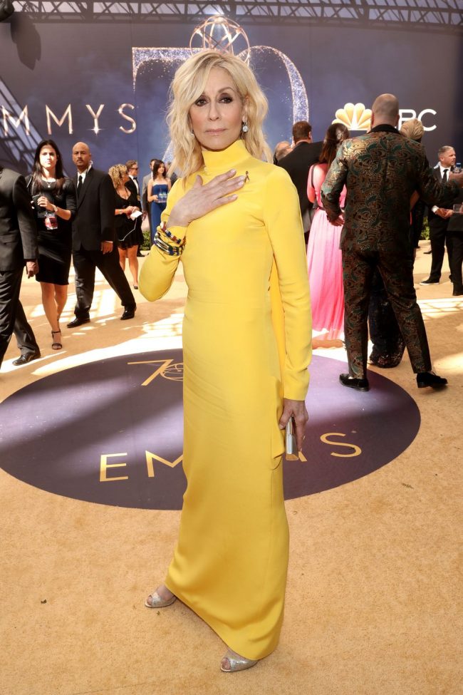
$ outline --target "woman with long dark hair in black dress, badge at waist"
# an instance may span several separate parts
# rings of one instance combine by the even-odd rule
[[[42,140],[28,179],[38,230],[38,274],[42,304],[51,325],[53,350],[61,350],[59,320],[68,299],[71,221],[76,215],[76,188],[63,175],[61,153],[53,140]]]

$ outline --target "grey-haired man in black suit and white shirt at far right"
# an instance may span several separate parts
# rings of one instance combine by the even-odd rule
[[[439,164],[432,170],[432,173],[435,175],[439,183],[447,183],[449,173],[454,168],[457,160],[457,155],[455,154],[454,148],[452,148],[450,145],[444,145],[442,148],[439,148],[437,155],[439,157]],[[432,253],[431,272],[430,277],[428,277],[426,280],[422,280],[420,284],[439,284],[446,244],[447,252],[449,254],[449,266],[452,267],[452,242],[449,244],[447,239],[447,227],[449,225],[449,218],[452,217],[452,207],[453,199],[449,198],[444,207],[433,205],[428,210],[427,220],[430,224]]]

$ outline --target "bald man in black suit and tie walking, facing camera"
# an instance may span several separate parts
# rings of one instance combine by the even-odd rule
[[[90,321],[90,307],[95,288],[95,269],[104,275],[120,297],[125,319],[135,316],[135,299],[128,279],[119,263],[114,217],[115,193],[110,176],[94,169],[90,148],[85,143],[73,147],[74,179],[77,189],[77,214],[73,221],[73,264],[76,271],[76,318],[68,324],[74,328]]]

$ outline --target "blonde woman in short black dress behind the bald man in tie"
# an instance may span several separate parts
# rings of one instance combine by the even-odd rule
[[[136,220],[131,220],[133,212],[140,211],[137,196],[125,184],[129,180],[127,167],[115,164],[108,171],[113,181],[115,193],[115,229],[118,235],[119,261],[125,271],[125,261],[128,259],[133,278],[133,287],[138,289],[138,230]]]

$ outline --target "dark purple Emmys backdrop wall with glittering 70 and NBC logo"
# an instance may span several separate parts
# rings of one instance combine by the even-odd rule
[[[461,19],[456,26],[443,15],[439,24],[347,15],[290,23],[284,14],[264,22],[223,11],[156,21],[123,14],[125,3],[109,3],[104,15],[80,14],[80,5],[16,2],[15,14],[0,23],[2,165],[27,173],[42,138],[56,140],[68,173],[77,140],[105,170],[135,158],[142,174],[150,158],[169,160],[168,87],[177,66],[202,46],[233,51],[254,68],[269,99],[272,148],[291,139],[291,124],[300,119],[310,120],[315,140],[335,119],[359,134],[368,129],[375,96],[393,92],[401,121],[422,118],[431,164],[442,144],[462,152]]]

